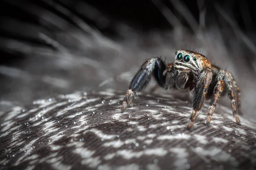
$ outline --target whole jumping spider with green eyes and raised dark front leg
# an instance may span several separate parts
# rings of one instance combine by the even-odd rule
[[[178,50],[175,54],[174,64],[171,62],[167,67],[160,57],[148,59],[141,65],[125,94],[121,113],[125,111],[126,107],[132,106],[132,99],[136,92],[145,88],[151,79],[151,75],[153,75],[158,85],[166,90],[189,89],[193,96],[193,111],[187,126],[188,130],[193,127],[203,102],[207,99],[211,99],[206,122],[206,125],[209,125],[219,97],[226,92],[228,92],[231,100],[236,124],[240,125],[236,111],[238,110],[238,113],[241,114],[241,95],[232,74],[227,70],[211,65],[203,54],[187,50]],[[235,91],[237,91],[237,94],[235,94]]]

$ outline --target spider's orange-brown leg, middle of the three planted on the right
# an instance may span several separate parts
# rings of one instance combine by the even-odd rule
[[[221,96],[221,93],[224,90],[224,87],[225,87],[225,84],[224,84],[223,80],[221,80],[221,79],[218,80],[218,82],[215,85],[215,88],[214,88],[214,91],[213,91],[213,94],[212,94],[212,98],[211,98],[211,101],[210,101],[210,106],[209,106],[208,118],[207,118],[206,125],[210,125],[210,121],[211,121],[211,118],[212,118],[213,111],[215,109],[215,106],[217,105],[217,102],[218,102],[218,99]]]

